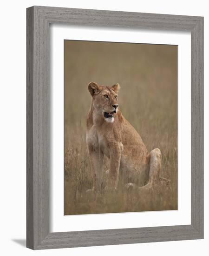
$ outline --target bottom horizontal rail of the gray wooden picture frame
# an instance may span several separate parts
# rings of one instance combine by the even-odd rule
[[[199,239],[190,225],[51,233],[36,249]]]

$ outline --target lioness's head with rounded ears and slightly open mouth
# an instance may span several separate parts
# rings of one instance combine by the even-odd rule
[[[118,111],[118,91],[119,84],[112,87],[98,86],[95,82],[88,85],[89,92],[92,96],[93,107],[97,114],[102,115],[107,122],[113,122],[114,116]]]

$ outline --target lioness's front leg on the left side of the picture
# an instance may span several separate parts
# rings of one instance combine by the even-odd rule
[[[103,174],[103,165],[104,165],[104,154],[95,150],[92,147],[89,147],[89,155],[91,162],[91,171],[93,176],[93,187],[87,191],[95,191],[101,189],[102,184],[102,174]]]

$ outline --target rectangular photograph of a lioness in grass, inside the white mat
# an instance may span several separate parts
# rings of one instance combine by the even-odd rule
[[[64,40],[64,215],[178,209],[178,46]]]

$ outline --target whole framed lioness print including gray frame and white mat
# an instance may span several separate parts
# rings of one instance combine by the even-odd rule
[[[27,8],[27,247],[203,238],[203,18]]]

